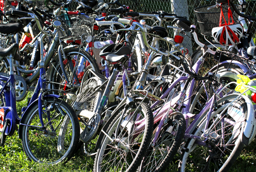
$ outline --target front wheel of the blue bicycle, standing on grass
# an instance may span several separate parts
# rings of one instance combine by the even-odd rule
[[[23,148],[30,160],[56,164],[69,160],[79,141],[79,122],[74,110],[67,102],[47,98],[43,100],[42,130],[38,102],[27,111],[22,126]],[[29,125],[29,126],[26,126]]]

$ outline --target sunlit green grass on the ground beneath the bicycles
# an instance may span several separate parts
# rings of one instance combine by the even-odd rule
[[[17,103],[17,110],[20,112],[21,107],[27,104],[27,100]],[[177,162],[179,156],[174,159],[165,171],[177,171]],[[22,141],[18,138],[18,133],[15,132],[12,137],[7,137],[5,146],[0,147],[0,171],[93,171],[94,159],[84,157],[77,152],[74,157],[66,164],[59,163],[57,165],[48,165],[29,161],[23,151]],[[256,139],[245,147],[241,156],[237,159],[235,167],[230,171],[256,171]]]

